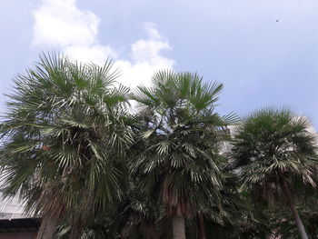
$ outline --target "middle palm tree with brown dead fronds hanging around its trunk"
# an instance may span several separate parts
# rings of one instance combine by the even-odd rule
[[[183,239],[184,218],[197,214],[198,205],[218,200],[223,184],[219,133],[234,115],[214,112],[223,85],[203,84],[199,75],[161,71],[152,84],[139,86],[133,95],[144,150],[132,168],[144,192],[165,205],[174,238]]]

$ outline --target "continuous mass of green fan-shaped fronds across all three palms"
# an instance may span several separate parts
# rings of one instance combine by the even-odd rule
[[[298,238],[288,185],[318,236],[317,147],[305,117],[263,108],[232,130],[236,115],[215,111],[222,84],[159,71],[131,93],[118,75],[111,61],[41,55],[15,77],[0,125],[6,196],[19,194],[60,239],[172,238],[174,216],[187,238]]]

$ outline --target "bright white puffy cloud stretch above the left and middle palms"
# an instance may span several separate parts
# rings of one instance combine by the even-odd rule
[[[33,45],[58,47],[72,58],[99,65],[108,57],[113,58],[114,65],[122,70],[119,82],[130,87],[148,85],[155,71],[174,66],[174,60],[161,55],[163,50],[171,50],[171,46],[153,23],[144,24],[148,37],[134,42],[130,59],[122,59],[111,46],[98,40],[100,18],[75,4],[76,0],[42,0],[33,12]]]

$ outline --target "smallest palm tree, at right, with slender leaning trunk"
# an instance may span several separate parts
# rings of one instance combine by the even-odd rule
[[[301,238],[308,236],[296,207],[294,184],[315,186],[317,157],[308,121],[286,108],[264,108],[243,118],[234,137],[234,168],[243,186],[290,207]]]

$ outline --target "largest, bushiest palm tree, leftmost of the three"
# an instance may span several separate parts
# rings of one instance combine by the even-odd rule
[[[120,159],[132,137],[125,122],[128,90],[115,87],[112,62],[83,65],[63,55],[41,55],[17,75],[1,124],[0,166],[6,194],[20,194],[26,210],[42,216],[37,238],[56,224],[84,223],[119,194]]]

